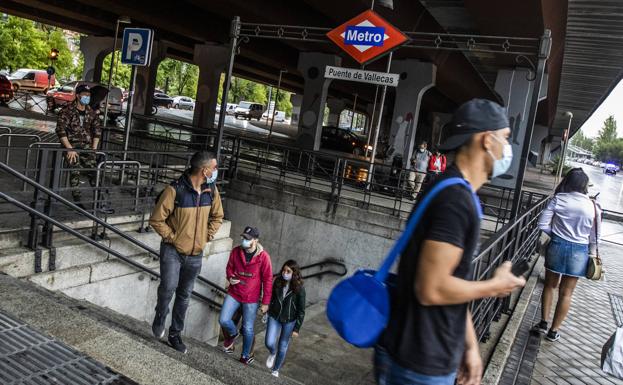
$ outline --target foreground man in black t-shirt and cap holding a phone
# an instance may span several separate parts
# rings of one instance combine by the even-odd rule
[[[460,185],[442,190],[402,254],[389,324],[376,348],[379,384],[480,384],[483,365],[468,303],[507,296],[525,284],[509,262],[490,280],[471,281],[480,237],[472,194],[511,163],[506,112],[473,99],[459,107],[449,130],[441,149],[456,150],[455,163],[435,183],[464,178],[473,191]]]

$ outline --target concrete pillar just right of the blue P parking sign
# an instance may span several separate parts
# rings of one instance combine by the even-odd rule
[[[149,65],[136,67],[133,102],[134,113],[136,114],[151,115],[158,66],[166,58],[166,51],[166,47],[162,42],[154,41]]]

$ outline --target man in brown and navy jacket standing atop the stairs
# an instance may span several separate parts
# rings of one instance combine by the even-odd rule
[[[167,186],[154,207],[149,224],[162,237],[160,244],[160,285],[152,332],[164,337],[169,303],[175,293],[169,343],[182,353],[184,318],[195,279],[201,272],[203,247],[223,223],[223,206],[214,182],[218,174],[216,158],[198,152],[191,168]]]

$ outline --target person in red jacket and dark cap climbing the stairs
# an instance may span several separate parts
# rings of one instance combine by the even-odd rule
[[[238,337],[236,324],[232,320],[234,313],[242,307],[242,354],[240,362],[245,365],[253,362],[255,316],[258,301],[262,301],[262,313],[268,311],[273,287],[273,269],[270,255],[258,242],[258,229],[247,226],[241,234],[242,242],[229,255],[227,262],[227,280],[229,289],[223,302],[219,323],[226,332],[223,349],[226,353],[234,352],[234,342]]]

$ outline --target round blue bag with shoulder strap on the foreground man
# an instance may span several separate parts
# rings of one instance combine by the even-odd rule
[[[404,251],[426,208],[443,189],[452,185],[463,185],[474,198],[478,215],[482,218],[482,208],[478,196],[462,178],[448,178],[437,183],[417,206],[415,213],[407,222],[405,231],[394,244],[378,271],[358,270],[352,277],[340,282],[329,296],[327,317],[337,333],[348,343],[369,348],[376,344],[389,321],[389,287],[396,275],[389,270]],[[389,280],[388,280],[389,277]]]

